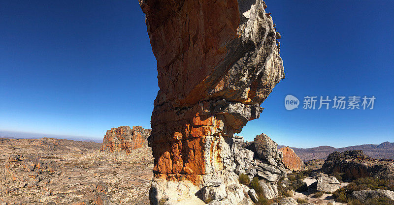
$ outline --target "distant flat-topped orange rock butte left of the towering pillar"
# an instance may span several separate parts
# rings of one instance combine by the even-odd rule
[[[101,151],[109,150],[110,152],[126,151],[147,146],[147,138],[150,135],[149,129],[141,126],[120,126],[108,130],[104,136]]]

